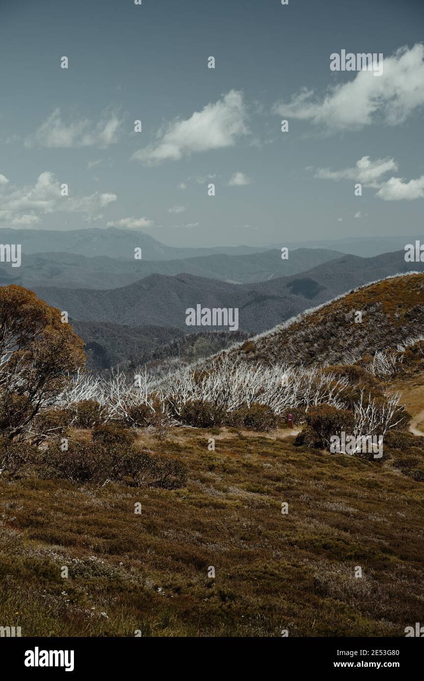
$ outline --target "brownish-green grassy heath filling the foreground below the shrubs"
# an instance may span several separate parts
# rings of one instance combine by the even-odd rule
[[[189,466],[186,488],[0,482],[2,626],[26,636],[398,636],[423,620],[423,482],[275,434],[225,432],[214,452],[208,430],[141,437]]]

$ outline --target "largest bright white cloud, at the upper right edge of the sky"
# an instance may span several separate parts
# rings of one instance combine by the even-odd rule
[[[330,86],[321,97],[306,88],[289,104],[274,104],[274,112],[291,116],[329,132],[358,130],[371,123],[397,125],[424,106],[424,44],[400,48],[383,60],[382,76],[360,71],[353,80]]]

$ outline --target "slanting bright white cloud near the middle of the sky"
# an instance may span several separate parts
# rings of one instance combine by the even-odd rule
[[[178,161],[195,152],[234,146],[238,137],[249,132],[246,118],[242,93],[231,90],[186,121],[169,123],[165,131],[158,132],[157,142],[136,151],[133,159],[155,165],[165,160]]]

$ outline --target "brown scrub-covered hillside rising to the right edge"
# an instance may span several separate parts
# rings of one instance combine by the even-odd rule
[[[408,274],[351,291],[232,352],[255,361],[341,364],[423,333],[424,274]]]

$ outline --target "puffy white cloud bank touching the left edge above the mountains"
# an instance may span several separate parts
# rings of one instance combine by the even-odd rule
[[[52,212],[77,212],[96,215],[101,208],[116,201],[116,194],[95,193],[87,196],[62,196],[61,184],[51,172],[43,172],[32,187],[0,187],[0,222],[10,226],[35,225],[40,215]]]

